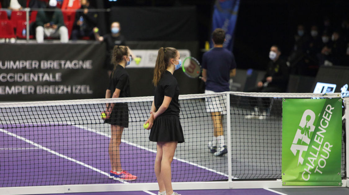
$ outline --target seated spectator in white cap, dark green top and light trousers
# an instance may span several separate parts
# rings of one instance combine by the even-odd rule
[[[63,14],[60,9],[55,9],[57,0],[50,0],[47,8],[52,11],[39,11],[36,16],[36,40],[44,42],[46,37],[60,37],[61,42],[68,42],[68,29],[64,25]]]

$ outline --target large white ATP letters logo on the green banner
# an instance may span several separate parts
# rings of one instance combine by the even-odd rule
[[[298,165],[299,163],[303,164],[304,158],[302,155],[304,151],[307,151],[311,135],[315,130],[314,121],[315,113],[309,109],[305,110],[290,148],[295,156],[297,155],[297,151],[299,151]]]

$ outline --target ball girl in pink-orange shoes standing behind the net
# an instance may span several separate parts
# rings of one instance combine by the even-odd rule
[[[130,96],[129,76],[125,67],[131,62],[132,56],[126,46],[114,46],[112,60],[114,69],[110,75],[109,87],[105,98],[127,98]],[[131,181],[137,177],[122,170],[120,159],[120,143],[122,132],[128,127],[127,103],[108,103],[105,109],[104,123],[111,125],[111,139],[109,143],[109,158],[111,164],[110,178]]]

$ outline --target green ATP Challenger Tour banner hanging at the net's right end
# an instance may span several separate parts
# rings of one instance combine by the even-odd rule
[[[342,99],[284,99],[282,185],[341,186]]]

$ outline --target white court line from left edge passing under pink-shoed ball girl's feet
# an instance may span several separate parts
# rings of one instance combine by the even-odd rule
[[[81,162],[81,161],[78,161],[78,160],[76,160],[76,159],[74,159],[74,158],[70,158],[70,157],[68,157],[68,156],[66,156],[66,155],[60,154],[60,153],[58,153],[58,152],[56,152],[56,151],[54,151],[54,150],[51,150],[51,149],[49,149],[49,148],[46,148],[45,146],[42,146],[42,145],[40,145],[40,144],[38,144],[38,143],[35,143],[35,142],[33,142],[33,141],[31,141],[31,140],[29,140],[29,139],[27,139],[27,138],[24,138],[24,137],[22,137],[22,136],[20,136],[20,135],[17,135],[17,134],[15,134],[15,133],[8,132],[8,131],[6,131],[6,130],[4,130],[4,129],[2,129],[2,128],[0,128],[0,132],[6,133],[6,134],[8,134],[8,135],[10,135],[10,136],[13,136],[13,137],[17,138],[17,139],[20,139],[20,140],[22,140],[22,141],[25,141],[25,142],[27,142],[27,143],[30,143],[31,145],[33,145],[33,146],[35,146],[35,147],[37,147],[37,148],[39,148],[39,149],[48,151],[48,152],[51,153],[51,154],[54,154],[54,155],[57,155],[57,156],[59,156],[59,157],[65,158],[65,159],[67,159],[67,160],[69,160],[69,161],[72,161],[72,162],[74,162],[74,163],[77,163],[77,164],[79,164],[79,165],[83,165],[83,166],[85,166],[85,167],[87,167],[87,168],[89,168],[89,169],[92,169],[92,170],[94,170],[94,171],[97,171],[98,173],[101,173],[101,174],[104,174],[104,175],[106,175],[106,176],[109,176],[109,173],[106,173],[106,172],[104,172],[104,171],[101,171],[101,170],[99,170],[99,169],[97,169],[97,168],[95,168],[95,167],[93,167],[93,166],[91,166],[91,165],[85,164],[85,163],[83,163],[83,162]],[[124,183],[124,184],[128,184],[127,181],[122,181],[122,180],[120,180],[119,178],[117,178],[117,180],[120,181],[120,182],[122,182],[122,183]],[[156,194],[154,194],[154,193],[152,193],[152,192],[149,192],[149,191],[143,191],[143,192],[148,193],[148,194],[151,194],[151,195],[156,195]]]

